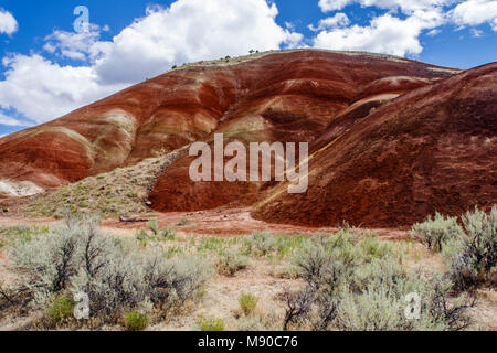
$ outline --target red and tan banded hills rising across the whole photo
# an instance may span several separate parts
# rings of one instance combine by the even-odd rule
[[[461,213],[497,203],[496,65],[459,73],[313,50],[189,65],[0,139],[0,184],[59,188],[223,132],[245,146],[309,142],[308,192],[195,183],[187,154],[158,175],[155,210],[254,205],[269,222],[381,226]]]

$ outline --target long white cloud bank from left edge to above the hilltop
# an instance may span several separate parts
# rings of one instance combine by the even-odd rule
[[[55,31],[45,38],[45,53],[82,66],[61,66],[40,53],[10,55],[0,108],[44,122],[173,64],[297,46],[303,35],[279,26],[277,14],[266,0],[178,0],[148,8],[112,41],[101,41],[94,25],[88,33]]]

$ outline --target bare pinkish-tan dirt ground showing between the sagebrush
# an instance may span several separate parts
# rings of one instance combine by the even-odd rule
[[[274,236],[311,236],[318,233],[335,232],[335,228],[308,228],[288,225],[267,224],[255,221],[247,210],[215,210],[199,213],[168,213],[155,214],[160,227],[175,226],[177,232],[176,245],[191,244],[212,237],[230,239],[250,235],[254,231],[271,231]],[[1,226],[18,224],[51,225],[52,218],[12,218],[0,217]],[[146,223],[120,223],[107,220],[102,223],[106,234],[120,238],[134,238],[137,229],[146,228]],[[410,270],[443,271],[444,265],[438,255],[426,250],[420,244],[408,242],[408,229],[368,229],[385,242],[394,242],[404,248],[404,265]],[[168,244],[168,245],[173,245]],[[6,247],[0,248],[0,279],[8,281],[10,274],[7,269],[9,263]],[[181,312],[171,318],[151,323],[148,330],[158,331],[188,331],[195,329],[198,318],[223,319],[226,330],[236,330],[241,317],[239,298],[242,292],[251,292],[260,298],[256,312],[264,318],[267,327],[281,329],[284,314],[282,296],[286,289],[299,288],[299,279],[289,279],[283,276],[284,269],[289,265],[287,259],[250,258],[250,266],[233,277],[215,275],[207,285],[202,297],[194,304],[182,308]],[[497,291],[478,291],[478,301],[472,309],[475,319],[474,330],[497,331]],[[0,313],[0,330],[22,330],[29,328],[30,318],[2,318]],[[279,327],[278,327],[279,325]],[[108,328],[120,330],[120,328]]]

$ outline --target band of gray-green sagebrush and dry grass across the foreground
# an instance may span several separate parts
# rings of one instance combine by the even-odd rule
[[[349,226],[313,237],[268,232],[191,237],[183,229],[177,236],[173,227],[160,228],[152,220],[136,239],[104,235],[91,217],[70,216],[56,227],[1,227],[0,240],[19,280],[0,286],[0,306],[24,314],[41,312],[36,327],[50,329],[144,330],[151,322],[155,330],[184,312],[198,318],[194,327],[202,331],[225,330],[226,323],[229,330],[247,331],[465,330],[477,319],[468,310],[477,284],[491,285],[496,214],[467,213],[462,222],[467,236],[443,242],[442,254],[432,254],[446,259],[447,274],[405,266],[419,252],[413,240],[384,242]],[[467,271],[456,271],[461,258],[473,269],[470,281],[461,279]],[[203,296],[209,301],[218,296],[211,286],[203,287],[214,267],[220,275],[233,276],[216,277],[215,282],[245,284],[263,269],[263,277],[289,286],[279,285],[281,291],[267,298],[261,287],[251,285],[261,293],[254,296],[222,285],[224,300],[236,303],[230,319],[199,306]],[[89,297],[89,320],[73,315],[73,298],[81,292]],[[405,317],[412,303],[406,296],[412,293],[421,298],[419,320]],[[198,317],[207,313],[213,317]]]

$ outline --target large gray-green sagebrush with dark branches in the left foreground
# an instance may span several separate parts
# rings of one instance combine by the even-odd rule
[[[27,302],[45,308],[54,296],[89,297],[91,314],[115,318],[142,307],[181,304],[213,272],[200,257],[168,259],[159,252],[139,254],[98,231],[92,218],[68,220],[50,235],[20,242],[11,252],[23,275]]]

